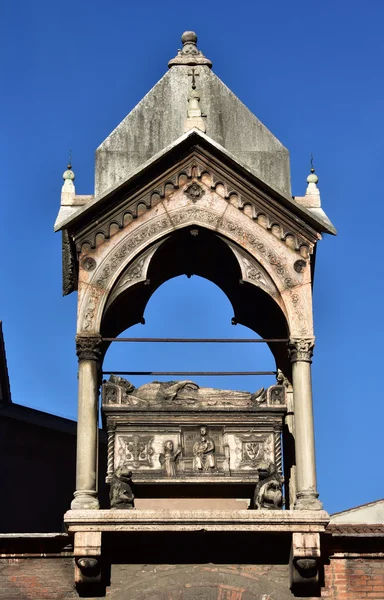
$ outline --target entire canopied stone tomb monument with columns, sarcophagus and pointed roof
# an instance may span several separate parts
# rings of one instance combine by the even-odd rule
[[[65,514],[75,581],[82,595],[133,600],[318,595],[329,516],[316,484],[312,282],[316,244],[335,229],[314,169],[305,195],[292,198],[288,150],[212,72],[196,34],[182,43],[97,149],[94,196],[76,194],[72,165],[64,173],[55,230],[64,294],[78,293],[77,476]],[[235,322],[268,343],[275,385],[103,380],[110,343],[181,274],[217,284]],[[102,507],[100,385],[110,486]],[[290,584],[252,576],[268,560]],[[154,562],[161,578],[129,570]],[[126,575],[117,575],[121,563]],[[248,571],[201,567],[216,563]],[[116,586],[129,595],[114,596]]]

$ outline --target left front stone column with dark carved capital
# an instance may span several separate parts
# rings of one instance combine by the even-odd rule
[[[76,491],[72,510],[99,508],[97,499],[98,405],[101,337],[76,336],[79,392],[76,454]]]

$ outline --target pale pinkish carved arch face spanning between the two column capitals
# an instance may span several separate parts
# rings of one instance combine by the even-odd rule
[[[196,203],[182,190],[80,260],[78,334],[100,333],[103,311],[127,267],[135,260],[144,260],[143,266],[148,266],[162,241],[188,226],[211,230],[229,244],[237,253],[243,279],[261,288],[264,285],[263,290],[282,308],[290,335],[312,335],[309,265],[302,260],[298,269],[295,252],[215,192],[204,194]],[[93,261],[92,269],[86,261]]]

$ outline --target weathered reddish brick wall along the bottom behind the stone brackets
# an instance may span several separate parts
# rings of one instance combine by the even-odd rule
[[[165,549],[166,551],[166,549]],[[113,564],[110,600],[293,600],[287,564]],[[334,556],[321,598],[384,600],[384,557]],[[0,559],[0,600],[72,600],[73,557]]]

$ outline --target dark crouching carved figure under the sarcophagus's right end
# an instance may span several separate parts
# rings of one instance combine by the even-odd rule
[[[256,484],[251,508],[277,510],[283,507],[283,480],[273,464],[260,463],[259,481]]]

